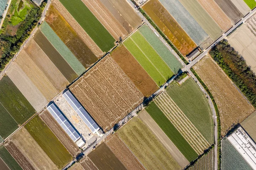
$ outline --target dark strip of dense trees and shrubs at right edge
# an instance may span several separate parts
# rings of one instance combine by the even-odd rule
[[[229,45],[227,40],[222,40],[214,46],[210,55],[255,108],[256,75],[244,58]]]

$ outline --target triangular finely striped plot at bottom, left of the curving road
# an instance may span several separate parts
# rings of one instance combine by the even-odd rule
[[[202,156],[188,170],[214,170],[214,149],[211,149],[206,155]]]

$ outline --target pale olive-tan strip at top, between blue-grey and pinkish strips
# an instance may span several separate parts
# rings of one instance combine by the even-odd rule
[[[222,31],[212,17],[204,10],[197,0],[180,0],[180,3],[188,10],[189,14],[199,23],[204,31],[212,38],[217,40]]]

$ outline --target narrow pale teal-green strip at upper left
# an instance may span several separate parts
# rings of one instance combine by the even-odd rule
[[[56,35],[56,33],[51,29],[47,22],[44,22],[40,27],[42,33],[49,40],[50,43],[55,47],[55,49],[60,53],[60,55],[69,63],[76,74],[81,75],[85,72],[84,66],[79,62],[75,55],[67,48],[67,46],[62,42],[62,40]]]

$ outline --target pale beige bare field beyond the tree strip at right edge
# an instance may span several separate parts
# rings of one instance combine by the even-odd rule
[[[250,29],[244,24],[227,37],[227,40],[256,73],[256,36]]]

